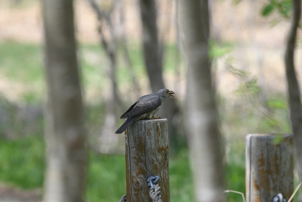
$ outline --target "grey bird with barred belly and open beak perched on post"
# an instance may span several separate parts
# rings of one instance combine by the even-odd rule
[[[123,125],[115,134],[124,132],[134,121],[142,119],[159,118],[154,117],[154,114],[159,110],[163,101],[166,101],[170,96],[174,97],[173,91],[161,89],[157,93],[144,95],[140,97],[120,118],[127,118]]]

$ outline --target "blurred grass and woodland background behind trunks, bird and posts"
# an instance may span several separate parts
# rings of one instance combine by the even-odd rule
[[[95,2],[76,0],[74,4],[89,144],[86,200],[111,202],[126,192],[124,134],[114,134],[124,121],[119,117],[137,98],[152,93],[152,88],[144,62],[138,2]],[[245,135],[291,132],[284,67],[291,1],[282,1],[283,10],[269,7],[268,0],[209,2],[210,55],[224,144],[225,189],[245,193]],[[173,202],[192,201],[184,129],[187,67],[180,42],[178,0],[157,0],[156,9],[162,77],[165,87],[175,92],[173,105],[177,109],[169,119],[173,133],[170,197]],[[298,38],[297,67],[302,65],[300,44]],[[110,54],[114,57],[108,57]],[[1,202],[41,201],[46,101],[43,58],[40,1],[1,0]],[[301,79],[301,68],[296,71]],[[297,183],[297,171],[294,175]],[[242,201],[237,194],[227,197],[228,201]]]

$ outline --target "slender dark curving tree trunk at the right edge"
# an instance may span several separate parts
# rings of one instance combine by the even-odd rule
[[[294,49],[297,37],[297,28],[301,17],[301,0],[293,0],[293,20],[288,33],[285,51],[286,78],[288,82],[288,97],[290,105],[291,127],[295,137],[297,164],[300,180],[302,178],[302,104],[300,88],[294,66]],[[302,201],[302,194],[299,196]]]

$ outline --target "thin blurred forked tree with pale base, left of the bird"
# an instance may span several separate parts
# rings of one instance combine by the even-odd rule
[[[98,18],[98,34],[101,39],[101,44],[105,49],[106,55],[110,61],[109,68],[109,78],[111,80],[111,93],[106,96],[106,115],[105,121],[102,125],[101,134],[98,138],[99,140],[99,151],[101,153],[113,154],[116,150],[116,146],[118,143],[118,138],[114,135],[114,131],[116,130],[116,121],[117,121],[117,108],[120,106],[123,111],[124,104],[120,99],[118,89],[117,89],[117,81],[116,81],[116,69],[117,69],[117,37],[116,32],[114,30],[114,25],[112,22],[112,14],[116,7],[116,2],[110,2],[111,5],[108,6],[107,9],[103,8],[100,5],[101,1],[96,0],[87,0]],[[103,23],[107,22],[109,27],[110,37],[105,36]],[[93,144],[93,143],[92,143]]]

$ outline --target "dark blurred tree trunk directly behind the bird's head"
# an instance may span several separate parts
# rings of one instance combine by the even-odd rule
[[[155,0],[140,0],[140,12],[143,24],[143,49],[145,64],[153,93],[165,88],[162,79],[162,52],[159,45],[158,30],[156,25],[156,4]],[[177,93],[177,89],[169,89]],[[170,154],[175,153],[178,145],[176,126],[173,124],[173,117],[178,113],[178,106],[175,99],[169,99],[162,103],[159,116],[168,119],[169,150]]]

